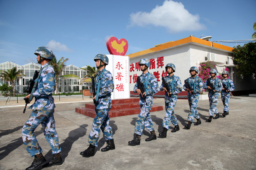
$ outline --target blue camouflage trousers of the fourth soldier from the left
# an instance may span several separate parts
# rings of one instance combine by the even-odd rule
[[[175,105],[176,105],[176,101],[165,103],[166,114],[163,118],[163,124],[162,124],[163,128],[169,129],[169,126],[171,125],[171,123],[174,126],[176,126],[178,124],[178,120],[177,120],[176,115],[174,114],[174,111],[173,111]]]

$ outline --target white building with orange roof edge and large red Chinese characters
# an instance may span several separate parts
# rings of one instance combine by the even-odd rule
[[[136,78],[142,73],[138,65],[141,58],[150,60],[149,72],[156,76],[159,86],[162,83],[162,76],[167,75],[165,72],[167,63],[175,65],[174,75],[179,76],[182,84],[184,84],[184,80],[190,77],[190,67],[199,67],[200,63],[212,61],[211,64],[214,67],[211,69],[217,70],[220,74],[225,67],[229,68],[229,78],[233,80],[236,86],[235,91],[255,90],[255,79],[248,85],[244,79],[236,75],[236,66],[231,59],[233,56],[232,50],[233,48],[228,46],[189,36],[130,54],[128,55],[130,57],[130,91],[133,91]]]

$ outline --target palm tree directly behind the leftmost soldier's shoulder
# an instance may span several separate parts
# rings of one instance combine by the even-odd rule
[[[58,90],[58,82],[59,82],[59,77],[60,73],[63,71],[65,65],[65,62],[67,62],[69,59],[64,57],[61,57],[60,60],[57,62],[57,59],[55,55],[53,54],[52,61],[50,61],[50,64],[52,65],[54,71],[55,71],[55,84],[56,84],[56,94],[59,94]]]

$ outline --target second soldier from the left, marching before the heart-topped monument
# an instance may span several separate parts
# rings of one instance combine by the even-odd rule
[[[96,100],[95,112],[96,117],[92,122],[92,130],[89,134],[88,142],[90,146],[83,152],[80,152],[83,157],[94,156],[95,146],[98,146],[98,140],[100,137],[100,129],[103,132],[103,136],[107,140],[107,146],[102,148],[102,152],[115,149],[112,128],[109,124],[108,112],[111,108],[111,92],[114,90],[113,76],[105,69],[108,65],[108,57],[105,54],[98,54],[95,56],[94,61],[99,72],[95,79],[95,90],[97,94],[92,98]],[[92,91],[91,91],[92,92]]]

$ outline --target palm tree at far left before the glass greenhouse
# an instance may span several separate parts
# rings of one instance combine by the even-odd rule
[[[10,81],[12,85],[12,96],[15,97],[14,82],[16,78],[16,81],[18,81],[20,76],[25,76],[22,74],[22,70],[17,70],[17,67],[13,67],[7,71],[0,70],[0,75],[5,81]]]

